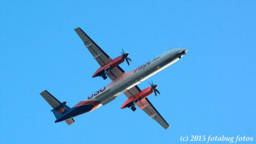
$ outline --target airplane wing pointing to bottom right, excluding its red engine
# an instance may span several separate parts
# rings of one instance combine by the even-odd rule
[[[125,91],[124,94],[128,97],[132,97],[133,95],[136,95],[137,93],[141,92],[140,88],[136,85],[129,90]],[[160,115],[160,113],[156,110],[156,108],[151,104],[151,102],[146,98],[140,100],[140,102],[137,103],[137,106],[139,106],[145,113],[147,113],[150,118],[153,118],[158,122],[164,129],[168,129],[170,126],[163,118],[163,116]]]

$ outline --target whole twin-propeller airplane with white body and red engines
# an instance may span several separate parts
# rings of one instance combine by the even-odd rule
[[[148,95],[152,93],[156,96],[157,93],[160,94],[156,89],[157,84],[151,82],[150,86],[144,90],[140,90],[138,84],[180,60],[188,49],[168,49],[168,51],[147,61],[131,72],[125,72],[119,65],[124,61],[129,65],[129,61],[132,61],[131,58],[129,58],[128,52],[125,53],[124,50],[122,50],[122,55],[112,60],[81,28],[74,30],[81,40],[83,40],[84,45],[91,52],[93,58],[100,65],[100,68],[92,77],[102,77],[103,79],[109,77],[111,82],[107,86],[104,86],[104,88],[101,88],[86,97],[86,99],[77,103],[73,108],[68,107],[66,105],[67,102],[60,102],[52,96],[51,93],[47,92],[47,90],[41,92],[40,95],[42,95],[52,107],[51,111],[56,117],[55,122],[65,120],[68,125],[73,124],[75,122],[75,116],[91,112],[100,106],[105,106],[115,100],[118,95],[124,93],[128,99],[124,102],[121,109],[131,108],[132,111],[136,111],[135,107],[138,106],[140,110],[142,109],[150,118],[156,120],[164,129],[168,129],[169,124],[147,98]]]

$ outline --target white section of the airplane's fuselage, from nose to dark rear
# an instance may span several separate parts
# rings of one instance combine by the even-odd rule
[[[177,56],[177,54],[182,51],[186,51],[186,49],[169,49],[168,51],[163,52],[163,54],[157,56],[153,60],[147,61],[147,63],[131,72],[125,72],[122,76],[111,81],[107,86],[88,96],[83,101],[100,101],[99,106],[108,104],[116,99],[117,95],[129,90],[145,79],[148,79],[148,77],[153,76],[157,72],[178,61],[179,56]]]

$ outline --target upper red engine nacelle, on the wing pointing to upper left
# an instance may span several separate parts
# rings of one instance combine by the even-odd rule
[[[116,57],[115,59],[111,60],[109,63],[107,63],[106,65],[100,67],[94,74],[92,77],[98,77],[101,76],[104,79],[106,79],[106,74],[109,70],[111,70],[111,68],[114,68],[118,65],[120,65],[120,63],[124,62],[124,58],[123,55]],[[110,69],[109,69],[110,68]]]

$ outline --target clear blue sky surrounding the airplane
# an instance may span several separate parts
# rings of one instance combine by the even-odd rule
[[[1,1],[0,143],[181,143],[182,135],[256,139],[255,1]],[[170,124],[143,111],[106,106],[54,123],[48,90],[74,106],[110,82],[74,28],[81,27],[115,58],[122,47],[130,71],[171,47],[177,63],[147,81],[148,99]],[[139,84],[147,88],[148,82]],[[191,142],[195,143],[195,142]],[[204,142],[202,142],[204,143]]]

